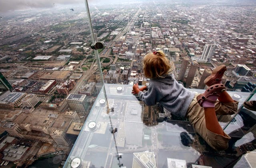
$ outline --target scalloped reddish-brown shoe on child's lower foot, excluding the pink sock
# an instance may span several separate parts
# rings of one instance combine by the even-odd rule
[[[202,107],[202,103],[204,101],[210,101],[212,103],[215,103],[216,101],[212,101],[210,99],[207,99],[207,97],[209,95],[218,95],[220,96],[219,94],[226,91],[225,89],[225,86],[223,84],[215,84],[215,85],[212,85],[211,87],[209,87],[204,93],[198,95],[196,97],[196,100],[198,101],[198,104]]]

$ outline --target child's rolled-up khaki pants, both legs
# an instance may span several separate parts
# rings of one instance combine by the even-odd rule
[[[200,107],[196,97],[196,94],[192,100],[188,111],[186,113],[186,118],[194,126],[195,131],[204,138],[204,140],[215,150],[225,150],[228,148],[228,141],[231,139],[225,132],[225,136],[215,134],[206,128],[204,108]],[[220,103],[216,101],[215,112],[217,115],[232,115],[237,112],[238,102],[234,103]]]

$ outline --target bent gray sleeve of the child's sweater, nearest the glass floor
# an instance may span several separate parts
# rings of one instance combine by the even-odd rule
[[[160,87],[157,87],[154,84],[148,85],[148,91],[146,92],[140,91],[138,93],[138,96],[140,97],[140,100],[143,101],[148,106],[155,105],[157,102],[159,102],[163,98],[163,94],[160,90]]]

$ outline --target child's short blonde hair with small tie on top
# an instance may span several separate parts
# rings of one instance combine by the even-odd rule
[[[172,62],[168,60],[162,50],[148,53],[143,59],[143,71],[145,77],[150,79],[165,77],[172,71]]]

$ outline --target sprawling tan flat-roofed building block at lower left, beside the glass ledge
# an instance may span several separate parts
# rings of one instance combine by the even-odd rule
[[[56,111],[36,110],[33,115],[18,113],[12,117],[12,121],[6,120],[1,127],[14,137],[68,146],[66,130],[77,119],[75,112],[68,115]]]

